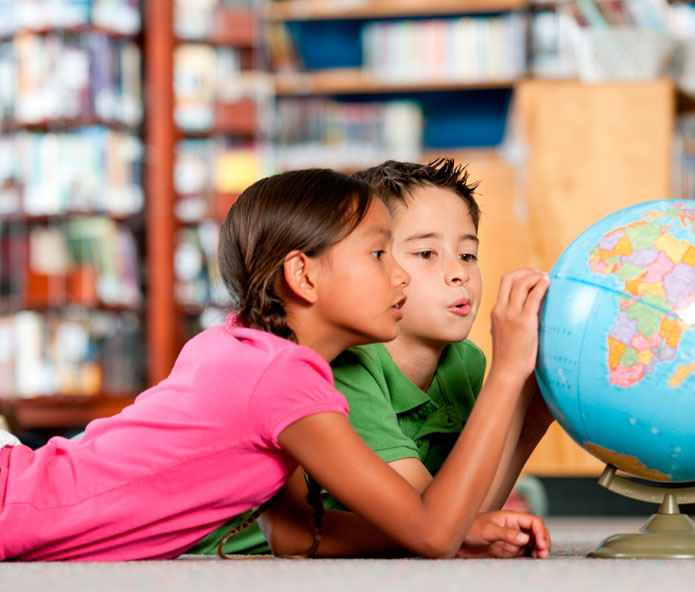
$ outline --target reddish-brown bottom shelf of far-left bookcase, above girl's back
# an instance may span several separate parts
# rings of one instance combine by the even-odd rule
[[[34,398],[2,398],[0,414],[12,431],[83,427],[93,419],[119,413],[133,403],[130,395],[43,396]]]

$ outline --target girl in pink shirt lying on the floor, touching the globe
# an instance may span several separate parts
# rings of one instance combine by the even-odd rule
[[[80,440],[0,449],[0,559],[173,558],[270,499],[298,463],[410,551],[452,556],[480,537],[474,519],[533,369],[547,279],[502,282],[491,388],[421,495],[354,432],[328,366],[347,347],[396,336],[408,276],[390,244],[388,211],[361,181],[296,171],[247,189],[220,240],[236,314]],[[547,548],[542,524],[521,528]]]

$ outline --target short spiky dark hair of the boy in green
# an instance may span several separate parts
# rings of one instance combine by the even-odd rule
[[[427,185],[450,189],[468,206],[473,225],[478,230],[480,208],[474,196],[478,183],[469,182],[466,167],[455,164],[452,158],[438,158],[428,164],[387,160],[354,173],[353,177],[369,183],[392,212],[395,205],[408,206],[414,189]]]

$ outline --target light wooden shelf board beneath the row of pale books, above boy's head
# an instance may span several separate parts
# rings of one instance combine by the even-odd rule
[[[512,88],[516,82],[517,80],[392,83],[371,76],[360,68],[336,68],[312,73],[278,74],[275,77],[275,92],[285,96],[435,92]]]

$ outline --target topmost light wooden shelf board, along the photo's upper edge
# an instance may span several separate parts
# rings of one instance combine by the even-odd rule
[[[275,21],[305,21],[437,16],[506,12],[528,6],[528,0],[276,0],[270,3],[269,18]]]

